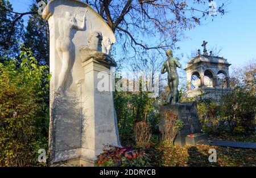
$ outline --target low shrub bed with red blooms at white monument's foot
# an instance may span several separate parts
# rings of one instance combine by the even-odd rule
[[[97,156],[98,167],[144,167],[150,166],[150,159],[143,149],[119,148],[107,146],[104,152]]]

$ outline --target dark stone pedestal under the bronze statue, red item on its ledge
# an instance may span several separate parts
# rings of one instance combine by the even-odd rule
[[[160,108],[159,130],[164,129],[165,112],[171,110],[177,118],[183,121],[183,128],[178,132],[175,144],[180,146],[196,145],[207,141],[207,134],[202,132],[195,102],[166,105]],[[193,135],[191,135],[193,134]],[[191,137],[192,136],[192,137]]]

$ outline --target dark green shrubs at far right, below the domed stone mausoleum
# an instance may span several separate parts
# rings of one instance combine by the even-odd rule
[[[247,86],[234,88],[222,95],[221,105],[212,99],[197,100],[203,131],[213,134],[250,135],[255,131],[256,96]]]

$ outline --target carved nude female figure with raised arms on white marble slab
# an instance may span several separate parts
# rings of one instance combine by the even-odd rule
[[[59,82],[57,85],[56,94],[64,95],[65,84],[67,82],[68,74],[71,71],[71,53],[72,51],[72,29],[84,30],[86,14],[82,19],[82,25],[77,24],[75,18],[76,15],[71,15],[69,12],[65,12],[64,18],[58,19],[60,36],[56,40],[56,50],[61,60],[62,66],[59,74]],[[73,52],[75,53],[75,52]]]

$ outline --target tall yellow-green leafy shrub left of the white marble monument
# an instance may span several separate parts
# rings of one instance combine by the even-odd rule
[[[49,75],[30,49],[20,60],[0,63],[0,166],[42,166],[38,150],[47,148]]]

